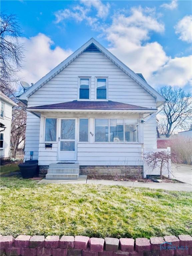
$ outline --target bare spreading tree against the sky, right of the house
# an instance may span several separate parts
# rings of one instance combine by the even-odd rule
[[[164,109],[165,119],[161,120],[161,128],[168,138],[176,128],[188,126],[187,121],[192,112],[192,98],[191,93],[186,93],[182,88],[173,89],[171,86],[163,86],[159,89],[159,93],[168,100]]]

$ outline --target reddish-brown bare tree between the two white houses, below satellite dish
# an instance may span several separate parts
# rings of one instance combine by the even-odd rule
[[[12,124],[11,124],[11,144],[13,154],[12,157],[16,157],[16,151],[19,146],[25,142],[25,130],[26,130],[26,120],[27,113],[25,107],[18,103],[18,107],[13,108],[12,114]]]

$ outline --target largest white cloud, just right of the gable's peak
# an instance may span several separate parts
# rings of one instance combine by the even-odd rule
[[[148,79],[167,60],[158,42],[145,43],[151,32],[162,33],[164,25],[155,17],[154,10],[132,8],[131,15],[118,14],[104,34],[110,42],[109,50],[128,67],[143,73]]]

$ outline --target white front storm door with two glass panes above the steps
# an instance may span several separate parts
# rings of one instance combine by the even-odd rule
[[[76,160],[76,119],[61,118],[59,125],[58,160]]]

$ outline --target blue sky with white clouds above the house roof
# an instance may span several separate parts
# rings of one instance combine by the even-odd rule
[[[154,87],[191,88],[191,1],[1,1],[18,16],[20,76],[36,82],[91,37]]]

